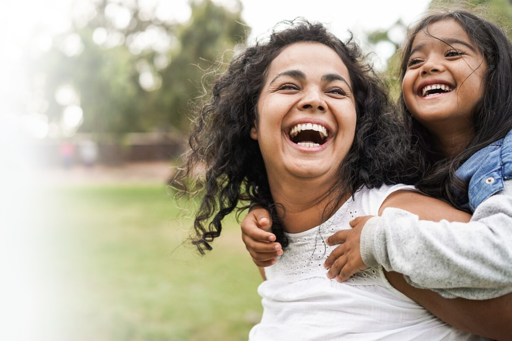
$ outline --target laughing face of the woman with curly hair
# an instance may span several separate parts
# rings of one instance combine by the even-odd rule
[[[334,50],[290,44],[271,62],[258,100],[258,140],[269,181],[332,183],[356,124],[349,72]]]

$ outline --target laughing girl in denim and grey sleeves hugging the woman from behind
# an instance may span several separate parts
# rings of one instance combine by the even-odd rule
[[[472,221],[425,221],[397,209],[355,219],[352,230],[328,240],[343,244],[327,259],[327,276],[345,281],[382,265],[446,298],[484,300],[512,292],[510,41],[466,11],[429,15],[406,43],[400,78],[399,106],[420,147],[419,166],[426,168],[417,188],[474,211]],[[262,240],[273,236],[258,231],[258,221],[269,225],[261,209],[246,217],[244,241],[255,262],[266,266],[280,253],[268,252],[274,243]],[[509,308],[509,319],[511,313]]]

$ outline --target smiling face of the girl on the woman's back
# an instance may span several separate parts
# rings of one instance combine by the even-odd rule
[[[426,32],[416,34],[403,77],[407,108],[433,132],[448,125],[472,131],[472,111],[484,92],[484,57],[453,19],[434,22]]]

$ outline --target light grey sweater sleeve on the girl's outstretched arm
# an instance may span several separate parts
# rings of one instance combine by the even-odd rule
[[[468,223],[419,220],[388,208],[367,221],[360,251],[368,266],[397,271],[445,298],[484,300],[512,292],[512,180]]]

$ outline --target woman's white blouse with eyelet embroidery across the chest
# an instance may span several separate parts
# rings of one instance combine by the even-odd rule
[[[363,188],[325,223],[286,234],[289,245],[267,280],[258,287],[263,316],[249,341],[275,340],[487,340],[447,325],[387,281],[381,267],[370,268],[344,283],[327,278],[324,262],[336,247],[325,243],[350,229],[358,216],[378,215],[382,202],[412,186]]]

